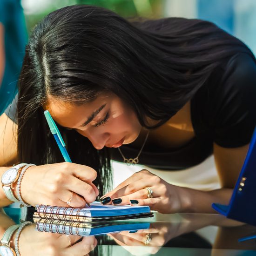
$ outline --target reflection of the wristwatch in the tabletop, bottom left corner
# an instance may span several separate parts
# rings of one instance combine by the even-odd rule
[[[15,251],[10,246],[11,237],[16,229],[20,227],[20,224],[13,225],[6,229],[1,241],[0,241],[0,255],[4,256],[16,256]]]

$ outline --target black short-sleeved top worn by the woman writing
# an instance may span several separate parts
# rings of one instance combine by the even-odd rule
[[[17,101],[17,100],[16,100]],[[16,102],[5,113],[15,121]],[[217,67],[191,100],[191,121],[195,138],[175,150],[142,151],[140,164],[159,169],[184,169],[197,165],[212,154],[213,142],[224,148],[249,143],[256,125],[256,60],[239,53]],[[133,158],[138,149],[121,146]],[[111,158],[122,162],[117,148]]]

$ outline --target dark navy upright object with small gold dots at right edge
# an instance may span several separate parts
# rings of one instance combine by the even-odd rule
[[[256,129],[229,205],[212,207],[230,219],[256,225]]]

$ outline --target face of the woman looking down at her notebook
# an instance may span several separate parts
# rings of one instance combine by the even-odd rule
[[[129,144],[141,131],[135,112],[112,93],[79,106],[51,97],[44,109],[59,125],[87,137],[96,149]]]

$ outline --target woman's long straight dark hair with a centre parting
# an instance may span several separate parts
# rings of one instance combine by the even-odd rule
[[[34,27],[20,74],[18,152],[21,162],[61,162],[43,117],[49,95],[81,104],[111,91],[155,128],[181,109],[220,63],[243,42],[213,23],[166,18],[129,22],[101,7],[69,6]],[[148,120],[155,120],[150,126]],[[98,170],[97,185],[109,186],[108,150],[61,129],[73,162]],[[108,177],[108,178],[104,178]]]

